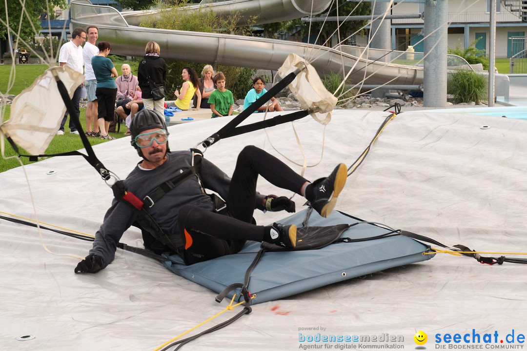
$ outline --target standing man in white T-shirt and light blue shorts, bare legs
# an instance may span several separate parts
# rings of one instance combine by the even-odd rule
[[[95,45],[99,38],[99,28],[89,26],[86,28],[86,37],[88,41],[84,44],[82,56],[84,58],[84,76],[88,106],[86,107],[86,136],[97,136],[99,134],[99,124],[97,124],[97,97],[95,90],[97,88],[97,79],[92,68],[92,57],[99,54],[99,48]]]

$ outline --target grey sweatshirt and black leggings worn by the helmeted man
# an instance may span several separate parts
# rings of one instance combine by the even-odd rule
[[[167,161],[155,169],[136,167],[126,178],[126,185],[142,199],[160,184],[190,167],[189,151],[172,152],[167,154]],[[238,156],[232,179],[206,158],[201,164],[203,186],[227,200],[232,217],[213,212],[212,200],[202,193],[196,176],[170,190],[148,212],[164,233],[183,239],[184,245],[179,249],[187,264],[236,253],[245,240],[261,242],[264,237],[264,226],[251,224],[254,209],[264,209],[265,196],[256,192],[258,175],[271,184],[296,193],[306,182],[276,157],[255,146],[247,146]],[[114,258],[122,234],[135,221],[159,239],[141,216],[125,203],[114,199],[104,223],[95,234],[90,254],[101,256],[104,267],[107,266]]]

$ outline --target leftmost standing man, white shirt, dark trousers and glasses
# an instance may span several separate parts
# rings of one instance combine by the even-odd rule
[[[58,65],[63,67],[68,65],[79,73],[83,73],[83,57],[82,57],[82,44],[86,41],[86,31],[83,28],[75,28],[71,34],[71,41],[62,45],[61,51],[58,54]],[[75,108],[77,115],[80,114],[79,103],[81,101],[82,84],[75,89],[71,102]],[[57,135],[64,135],[64,125],[66,124],[68,112],[62,119],[61,127],[58,129]],[[79,134],[77,127],[70,118],[70,133]]]

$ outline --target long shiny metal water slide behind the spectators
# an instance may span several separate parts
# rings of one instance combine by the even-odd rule
[[[244,8],[246,16],[275,15],[274,21],[284,17],[305,16],[311,12],[311,0],[228,0],[210,3],[214,11],[225,13],[227,9]],[[216,6],[218,4],[218,6]],[[414,53],[402,53],[397,57],[399,63],[377,58],[388,52],[362,47],[341,45],[329,48],[307,43],[248,37],[239,35],[172,31],[168,29],[145,28],[128,23],[139,24],[152,11],[133,11],[120,13],[113,7],[92,5],[87,0],[71,2],[71,27],[96,25],[99,27],[99,41],[108,41],[112,53],[126,56],[143,56],[148,41],[155,41],[161,47],[161,57],[178,61],[206,64],[217,63],[227,66],[269,69],[276,71],[290,53],[304,58],[316,58],[310,63],[320,75],[330,72],[347,73],[356,62],[350,80],[364,84],[420,85],[423,83],[423,67],[412,66]],[[327,0],[313,0],[313,8],[318,12],[328,6]],[[292,10],[294,8],[295,10]],[[295,12],[296,11],[296,12]],[[264,17],[269,21],[269,17]],[[366,50],[361,58],[360,52]],[[401,53],[401,52],[399,52]],[[391,53],[390,55],[393,55]],[[412,56],[410,56],[412,55]]]

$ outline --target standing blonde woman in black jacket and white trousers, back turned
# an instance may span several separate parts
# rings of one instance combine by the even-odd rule
[[[144,48],[145,56],[139,63],[138,81],[143,92],[143,104],[145,109],[151,109],[164,118],[164,97],[154,100],[152,89],[163,87],[167,79],[167,64],[159,56],[161,49],[156,42],[148,42]]]

